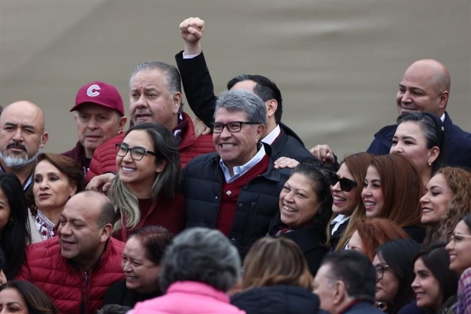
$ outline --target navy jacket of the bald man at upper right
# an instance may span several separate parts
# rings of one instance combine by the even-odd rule
[[[450,116],[445,111],[445,153],[446,163],[453,167],[466,167],[471,169],[471,133],[463,131],[453,124]],[[397,125],[386,126],[374,134],[366,153],[374,155],[389,154],[392,145],[392,136],[396,132]]]

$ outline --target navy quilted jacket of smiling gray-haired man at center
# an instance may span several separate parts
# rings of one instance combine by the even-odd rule
[[[270,146],[263,145],[270,156]],[[216,228],[222,182],[225,180],[220,159],[217,153],[198,156],[184,169],[187,228]],[[280,191],[290,172],[291,169],[275,169],[270,160],[264,174],[240,189],[229,238],[242,259],[252,243],[268,232],[270,220],[279,211]]]

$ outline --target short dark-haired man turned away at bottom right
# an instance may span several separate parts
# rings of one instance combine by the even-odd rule
[[[355,250],[329,253],[314,278],[320,309],[330,314],[381,314],[375,308],[375,269]]]

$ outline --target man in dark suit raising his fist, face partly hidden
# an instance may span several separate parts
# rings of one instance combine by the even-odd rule
[[[199,18],[189,18],[180,24],[184,51],[177,53],[175,59],[182,76],[188,105],[198,118],[209,125],[213,121],[217,97],[214,95],[214,87],[201,48],[200,40],[204,28],[205,22]],[[273,159],[312,158],[299,136],[281,122],[282,97],[275,83],[260,75],[239,75],[228,82],[227,89],[253,92],[265,102],[267,124],[262,142],[271,145]]]

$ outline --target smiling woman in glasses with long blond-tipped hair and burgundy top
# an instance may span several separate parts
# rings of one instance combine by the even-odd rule
[[[141,123],[116,145],[109,198],[121,215],[113,236],[126,241],[135,229],[160,225],[177,234],[185,224],[179,191],[180,159],[175,136],[156,123]]]

